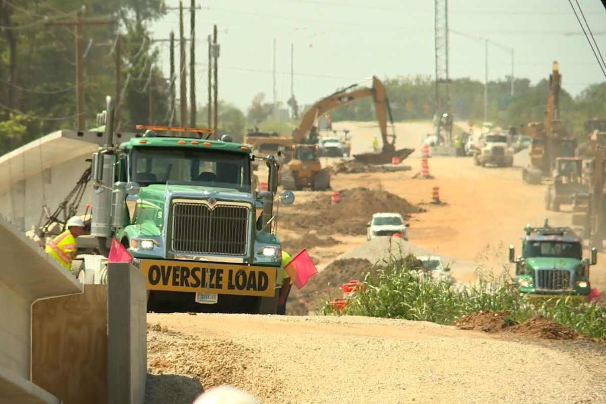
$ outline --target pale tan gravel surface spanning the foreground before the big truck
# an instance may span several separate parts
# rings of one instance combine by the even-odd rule
[[[606,402],[606,348],[583,340],[367,317],[148,314],[148,322],[165,330],[148,340],[172,342],[158,353],[165,375],[204,389],[230,383],[263,403]],[[175,360],[184,356],[193,363]],[[168,399],[156,382],[148,403],[191,402]]]

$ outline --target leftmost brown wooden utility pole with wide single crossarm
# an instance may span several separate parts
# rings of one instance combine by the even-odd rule
[[[84,25],[113,24],[113,20],[87,19],[84,21],[84,7],[76,12],[76,21],[47,22],[46,25],[73,25],[76,30],[76,113],[78,114],[78,131],[86,129],[86,111],[84,105],[84,48],[82,47],[82,27]]]

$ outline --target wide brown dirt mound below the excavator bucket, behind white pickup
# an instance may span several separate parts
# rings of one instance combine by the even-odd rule
[[[341,202],[330,204],[330,197],[284,209],[285,227],[301,233],[316,230],[320,235],[335,233],[350,236],[366,234],[366,223],[374,213],[398,212],[404,219],[424,211],[407,200],[384,190],[353,188],[339,192]]]

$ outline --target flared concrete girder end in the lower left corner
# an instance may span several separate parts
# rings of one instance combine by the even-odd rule
[[[59,403],[31,379],[32,304],[81,293],[82,285],[0,216],[0,403]]]

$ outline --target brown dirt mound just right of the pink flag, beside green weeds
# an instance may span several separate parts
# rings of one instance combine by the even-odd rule
[[[286,305],[287,314],[305,316],[328,299],[341,297],[343,283],[352,279],[362,280],[363,273],[367,271],[374,272],[376,268],[365,259],[350,258],[334,261],[323,271],[312,276],[304,288],[291,290]]]

